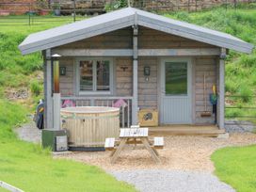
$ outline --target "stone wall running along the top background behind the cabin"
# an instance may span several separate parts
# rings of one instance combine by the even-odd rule
[[[116,0],[76,0],[76,13],[78,14],[102,14],[104,6]],[[196,11],[203,8],[212,8],[220,5],[235,5],[236,3],[250,3],[256,0],[131,0],[134,8],[149,11],[173,11],[188,10]],[[24,14],[31,10],[51,9],[56,3],[60,3],[61,13],[72,14],[72,0],[1,0],[0,15]]]

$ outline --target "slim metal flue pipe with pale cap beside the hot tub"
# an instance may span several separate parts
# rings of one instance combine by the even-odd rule
[[[55,54],[52,56],[54,65],[54,129],[60,130],[60,92],[59,92],[59,58]]]

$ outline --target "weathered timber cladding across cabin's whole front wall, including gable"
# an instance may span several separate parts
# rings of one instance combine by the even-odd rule
[[[168,35],[163,32],[152,30],[146,27],[139,27],[138,46],[143,49],[171,49],[171,48],[204,48],[214,47],[195,40],[187,40],[181,37]],[[101,36],[79,40],[58,49],[132,49],[132,28],[127,27]],[[200,114],[204,109],[203,96],[203,75],[206,75],[206,110],[212,112],[212,104],[209,102],[209,94],[212,93],[212,86],[217,85],[217,58],[216,56],[194,56],[193,57],[193,105],[194,123],[214,123],[214,116],[201,118]],[[113,57],[113,91],[112,96],[133,95],[133,59],[129,56]],[[138,107],[159,108],[158,85],[160,76],[158,66],[160,57],[139,56],[138,57]],[[76,95],[75,56],[62,57],[60,67],[66,67],[66,75],[60,76],[60,92],[62,96]],[[144,67],[150,67],[151,74],[147,80],[144,76]],[[92,95],[91,95],[92,96]],[[161,115],[161,114],[160,114]]]

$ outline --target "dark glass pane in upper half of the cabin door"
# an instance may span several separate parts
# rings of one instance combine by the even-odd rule
[[[187,94],[187,64],[166,62],[166,94]]]

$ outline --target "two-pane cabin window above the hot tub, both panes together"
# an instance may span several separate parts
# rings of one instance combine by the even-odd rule
[[[80,60],[79,93],[110,93],[111,71],[109,60]]]

